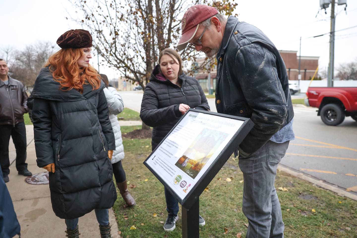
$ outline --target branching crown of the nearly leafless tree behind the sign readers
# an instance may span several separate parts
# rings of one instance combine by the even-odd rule
[[[104,59],[102,65],[115,68],[144,89],[160,51],[175,45],[181,36],[183,13],[200,3],[205,0],[73,0],[82,19],[72,20],[91,31],[95,49]],[[237,6],[234,0],[211,4],[226,15]],[[198,56],[193,50],[180,53],[186,64]],[[208,60],[200,67],[207,64]]]

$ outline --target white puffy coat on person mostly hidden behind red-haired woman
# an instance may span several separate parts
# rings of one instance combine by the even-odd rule
[[[111,159],[112,164],[124,159],[124,146],[121,138],[120,125],[118,122],[118,115],[124,109],[124,103],[118,91],[114,87],[104,88],[105,97],[108,102],[109,119],[113,127],[115,135],[115,151]]]

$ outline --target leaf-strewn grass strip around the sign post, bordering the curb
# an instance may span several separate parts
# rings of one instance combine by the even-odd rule
[[[135,128],[141,127],[121,127],[122,133]],[[151,139],[124,138],[123,144],[125,159],[122,163],[136,206],[124,209],[124,201],[118,192],[114,211],[121,237],[181,237],[181,210],[175,231],[164,232],[162,226],[167,216],[164,186],[142,163],[151,152]],[[226,178],[231,178],[231,182],[227,182]],[[208,185],[207,191],[200,196],[200,214],[206,220],[206,226],[200,228],[201,238],[235,238],[237,233],[245,237],[245,224],[248,222],[242,212],[242,180],[238,159],[231,157]],[[279,171],[275,187],[286,187],[288,190],[277,190],[285,223],[285,237],[357,237],[357,201],[340,197]],[[136,229],[130,229],[131,226]],[[228,232],[223,234],[225,228]]]

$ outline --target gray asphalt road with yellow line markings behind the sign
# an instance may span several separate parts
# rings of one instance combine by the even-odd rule
[[[125,107],[140,111],[142,91],[120,94]],[[293,98],[303,96],[300,93]],[[216,112],[213,98],[208,104]],[[357,194],[357,122],[346,117],[339,126],[327,126],[316,108],[297,105],[294,112],[296,139],[290,142],[281,164]]]

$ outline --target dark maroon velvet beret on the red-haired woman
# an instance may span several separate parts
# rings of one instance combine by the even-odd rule
[[[57,45],[62,49],[92,47],[92,36],[86,30],[69,30],[57,39]]]

